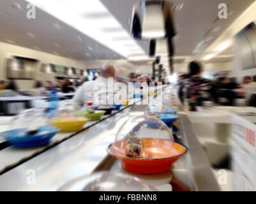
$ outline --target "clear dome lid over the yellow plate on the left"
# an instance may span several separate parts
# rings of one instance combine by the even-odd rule
[[[76,113],[80,110],[81,107],[72,102],[63,103],[54,111],[54,118],[77,117]]]

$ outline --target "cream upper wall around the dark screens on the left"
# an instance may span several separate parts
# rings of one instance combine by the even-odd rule
[[[6,60],[12,55],[17,55],[21,57],[29,57],[33,59],[38,59],[40,62],[36,69],[36,80],[52,80],[54,81],[53,74],[40,73],[41,63],[52,63],[63,66],[72,66],[74,68],[85,69],[86,62],[76,61],[73,59],[68,59],[66,57],[61,57],[59,55],[49,54],[46,52],[40,52],[38,50],[32,50],[29,48],[19,47],[17,45],[11,45],[8,43],[0,42],[0,79],[6,79]],[[20,89],[30,89],[33,86],[33,80],[17,80],[17,85]]]

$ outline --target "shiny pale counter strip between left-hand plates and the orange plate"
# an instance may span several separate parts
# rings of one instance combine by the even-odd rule
[[[91,173],[107,156],[107,146],[114,142],[131,109],[124,109],[4,173],[0,176],[0,191],[56,191],[66,182]]]

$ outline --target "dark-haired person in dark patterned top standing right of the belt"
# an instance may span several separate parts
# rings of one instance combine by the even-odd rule
[[[202,101],[209,101],[211,96],[211,81],[201,77],[202,66],[197,61],[188,65],[189,78],[185,83],[186,98],[194,98],[195,105],[201,106]]]

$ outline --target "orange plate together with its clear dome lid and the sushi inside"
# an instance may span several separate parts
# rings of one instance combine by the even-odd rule
[[[144,115],[124,122],[107,151],[126,171],[154,174],[170,171],[187,147],[174,143],[172,132],[162,120]]]

